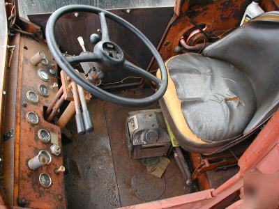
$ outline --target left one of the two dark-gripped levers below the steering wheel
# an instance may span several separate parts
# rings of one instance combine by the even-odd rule
[[[77,123],[77,134],[82,135],[85,134],[85,130],[82,119],[82,111],[80,110],[80,99],[77,93],[77,84],[75,84],[75,82],[72,82],[69,86],[72,88],[75,102],[75,121]]]

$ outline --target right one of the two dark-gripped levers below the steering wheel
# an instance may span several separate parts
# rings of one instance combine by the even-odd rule
[[[91,116],[87,109],[83,88],[81,86],[77,85],[77,90],[80,95],[80,103],[82,104],[82,116],[83,116],[85,130],[86,130],[86,132],[92,132],[93,124],[92,124]]]

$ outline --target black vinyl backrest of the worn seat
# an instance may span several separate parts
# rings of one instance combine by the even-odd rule
[[[279,12],[259,15],[206,47],[204,56],[231,63],[250,80],[257,110],[243,134],[255,130],[279,107]]]

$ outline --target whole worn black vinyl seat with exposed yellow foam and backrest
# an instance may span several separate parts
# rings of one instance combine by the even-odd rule
[[[168,59],[169,85],[160,106],[179,144],[209,155],[261,127],[279,107],[278,56],[279,12],[269,12],[202,54]]]

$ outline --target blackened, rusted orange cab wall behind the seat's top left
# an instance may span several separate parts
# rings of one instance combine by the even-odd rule
[[[193,29],[194,25],[188,18],[196,24],[206,24],[208,33],[218,31],[219,34],[222,34],[239,26],[244,10],[249,3],[249,0],[221,0],[213,3],[199,1],[199,3],[193,3],[189,6],[189,2],[184,1],[183,5],[180,6],[183,12],[171,23],[158,46],[158,51],[163,60],[176,55],[175,47],[179,45],[181,36]],[[158,69],[156,62],[151,62],[149,70]]]

